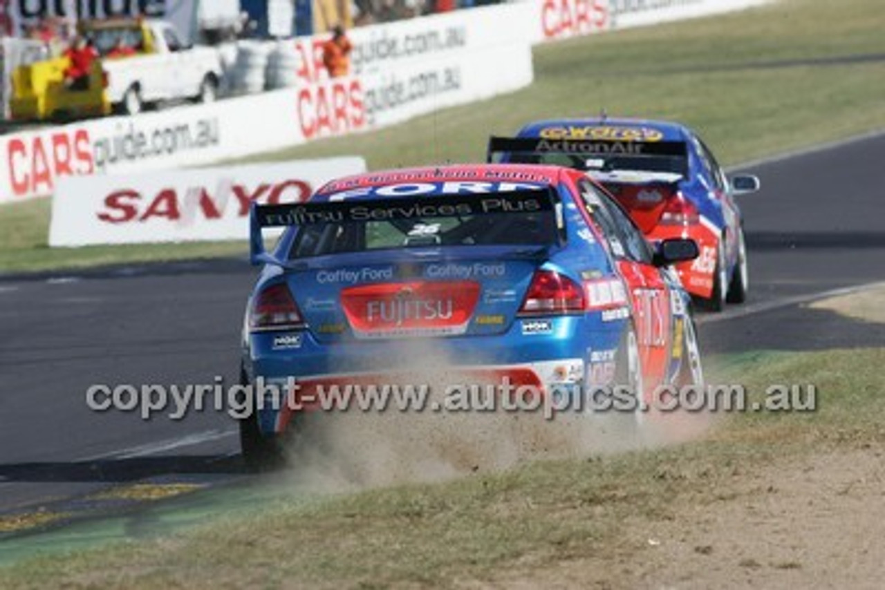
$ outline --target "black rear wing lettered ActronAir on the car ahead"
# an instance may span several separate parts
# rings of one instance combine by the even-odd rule
[[[548,139],[545,137],[489,137],[486,161],[500,153],[574,154],[576,156],[685,156],[685,142]]]

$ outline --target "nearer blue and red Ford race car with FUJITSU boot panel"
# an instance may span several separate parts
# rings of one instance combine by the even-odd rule
[[[244,385],[294,378],[299,399],[315,400],[320,386],[407,372],[428,349],[462,378],[541,392],[623,384],[645,395],[703,379],[690,297],[670,267],[696,257],[696,243],[652,249],[582,172],[371,172],[306,203],[253,205],[250,223],[264,269],[244,318]],[[269,227],[285,229],[268,252]],[[259,466],[309,406],[256,405],[240,426]]]

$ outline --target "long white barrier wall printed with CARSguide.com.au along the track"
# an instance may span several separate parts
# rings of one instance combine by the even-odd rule
[[[294,41],[298,84],[218,103],[0,137],[0,203],[68,176],[205,165],[371,131],[524,88],[531,45],[764,4],[766,0],[525,0],[360,27],[353,73],[329,80],[327,35]]]

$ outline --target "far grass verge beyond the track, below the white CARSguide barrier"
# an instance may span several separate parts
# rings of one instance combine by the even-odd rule
[[[532,119],[677,119],[725,164],[885,127],[880,0],[782,0],[712,19],[535,49],[535,84],[371,134],[244,158],[362,154],[370,167],[481,161],[489,134]],[[0,272],[244,254],[244,242],[50,249],[45,201],[0,208]]]

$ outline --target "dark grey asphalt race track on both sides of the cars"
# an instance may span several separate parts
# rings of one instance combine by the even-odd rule
[[[701,318],[706,353],[885,346],[882,326],[799,303],[885,280],[882,162],[885,134],[746,168],[763,184],[742,201],[750,301]],[[91,411],[85,392],[233,383],[254,276],[219,261],[0,279],[0,514],[129,481],[245,477],[226,413],[146,422]]]

